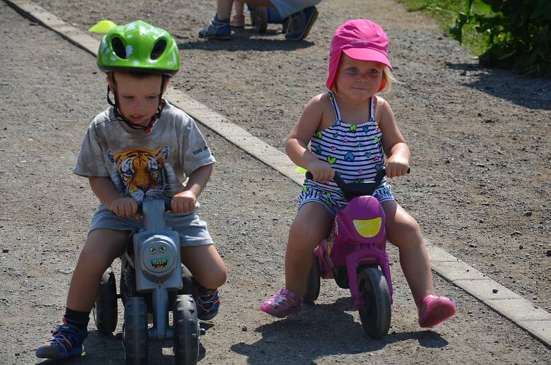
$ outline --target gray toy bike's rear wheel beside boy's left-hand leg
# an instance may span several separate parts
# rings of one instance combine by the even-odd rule
[[[109,267],[101,276],[98,298],[94,304],[94,322],[100,333],[110,335],[115,331],[118,320],[116,281],[113,269]]]

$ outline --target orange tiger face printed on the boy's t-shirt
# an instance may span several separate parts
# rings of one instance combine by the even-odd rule
[[[146,197],[169,201],[177,192],[174,169],[168,163],[169,146],[157,150],[132,148],[118,153],[107,150],[105,154],[117,190],[136,202]]]

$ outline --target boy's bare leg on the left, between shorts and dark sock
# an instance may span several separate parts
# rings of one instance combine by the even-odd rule
[[[88,234],[84,248],[76,263],[67,308],[90,312],[98,296],[101,275],[126,247],[129,231],[96,229]]]

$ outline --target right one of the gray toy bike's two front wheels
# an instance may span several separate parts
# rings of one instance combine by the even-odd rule
[[[197,364],[199,359],[199,321],[191,295],[178,295],[174,302],[174,356],[176,364]]]

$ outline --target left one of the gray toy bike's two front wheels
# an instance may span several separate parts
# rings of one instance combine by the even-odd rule
[[[126,364],[147,364],[147,305],[141,297],[127,298],[123,344]]]

